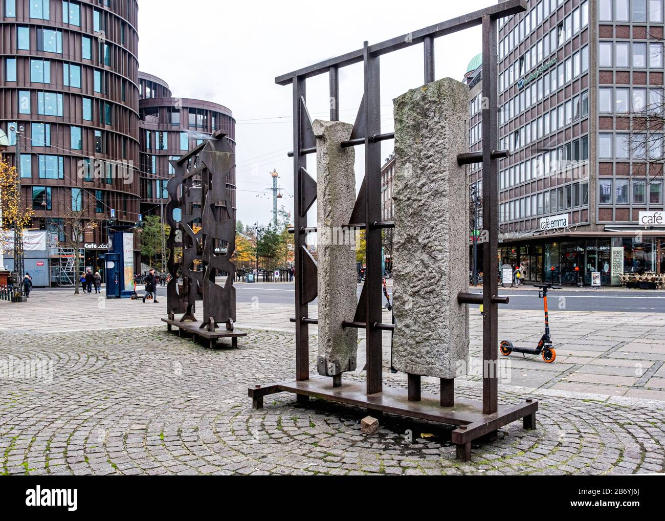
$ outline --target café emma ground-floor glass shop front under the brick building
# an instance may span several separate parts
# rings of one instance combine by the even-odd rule
[[[622,285],[622,275],[665,274],[665,232],[561,234],[499,244],[499,265],[520,265],[527,283]],[[623,277],[625,283],[626,277]],[[654,283],[655,285],[655,283]]]

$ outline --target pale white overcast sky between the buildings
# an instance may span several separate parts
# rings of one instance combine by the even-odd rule
[[[495,0],[363,2],[338,0],[228,2],[140,0],[140,70],[164,79],[174,97],[223,104],[236,120],[237,218],[267,224],[272,198],[269,172],[279,172],[283,199],[293,212],[291,86],[275,77],[325,59],[483,9]],[[481,51],[478,27],[436,41],[436,78],[461,80]],[[423,83],[422,45],[381,59],[382,132],[392,132],[392,99]],[[340,71],[341,119],[353,122],[362,97],[362,63]],[[307,81],[313,119],[328,118],[328,75]],[[384,158],[392,140],[382,143]],[[363,174],[356,147],[356,190]],[[316,159],[307,158],[315,176]],[[264,192],[261,197],[261,192]],[[259,196],[259,197],[257,197]],[[310,210],[313,224],[315,208]]]

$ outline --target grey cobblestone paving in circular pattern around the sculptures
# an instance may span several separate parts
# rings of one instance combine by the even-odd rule
[[[664,468],[665,413],[656,408],[547,396],[537,429],[524,431],[521,421],[504,427],[495,442],[474,445],[469,462],[456,460],[450,430],[438,425],[386,415],[378,433],[365,436],[366,411],[322,401],[300,407],[287,393],[265,397],[265,408],[253,411],[247,387],[294,377],[293,335],[249,331],[239,345],[208,349],[162,327],[0,339],[0,473],[628,474]],[[386,373],[384,385],[404,387],[404,379]],[[477,388],[457,392],[479,395]],[[501,394],[502,403],[521,399]]]

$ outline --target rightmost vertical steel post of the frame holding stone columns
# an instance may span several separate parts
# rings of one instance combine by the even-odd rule
[[[483,413],[497,412],[497,163],[491,158],[497,150],[497,22],[483,17],[483,228],[489,234],[483,243]]]

